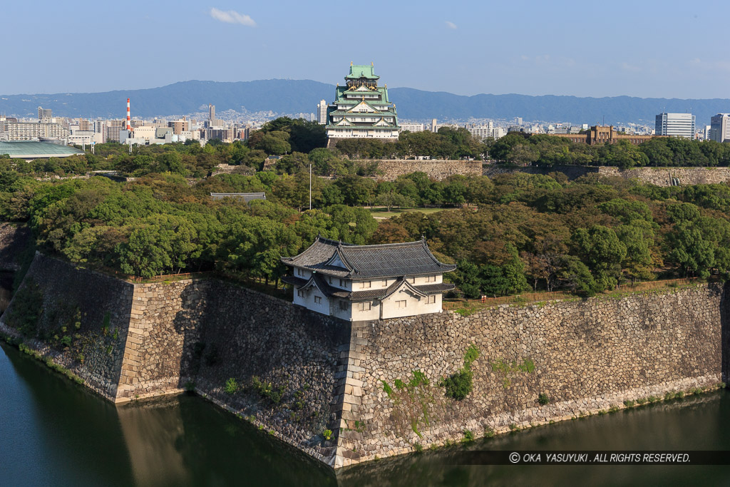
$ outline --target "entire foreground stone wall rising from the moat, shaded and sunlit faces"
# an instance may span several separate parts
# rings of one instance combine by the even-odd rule
[[[41,296],[44,340],[26,344],[108,399],[194,388],[334,467],[708,386],[730,369],[721,285],[354,323],[220,280],[132,284],[39,253],[23,288]],[[76,311],[73,345],[60,346],[53,334]],[[470,345],[474,388],[457,401],[439,381]]]

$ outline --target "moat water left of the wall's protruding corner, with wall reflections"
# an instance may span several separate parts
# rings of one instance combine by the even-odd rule
[[[5,345],[0,391],[0,456],[13,460],[0,461],[3,485],[337,485],[331,470],[199,397],[116,407]]]

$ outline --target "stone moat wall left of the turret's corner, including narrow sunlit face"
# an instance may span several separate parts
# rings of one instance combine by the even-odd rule
[[[337,440],[323,432],[341,418],[350,323],[219,280],[132,284],[36,253],[0,331],[19,335],[13,308],[24,288],[37,293],[42,310],[26,345],[107,399],[194,388],[334,463]],[[74,337],[72,345],[54,334]],[[233,394],[229,379],[238,386]]]

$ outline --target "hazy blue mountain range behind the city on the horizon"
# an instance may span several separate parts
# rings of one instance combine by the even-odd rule
[[[212,103],[223,110],[277,113],[315,112],[320,99],[334,98],[334,85],[310,80],[258,80],[237,83],[184,81],[161,88],[106,91],[103,93],[55,93],[0,95],[0,114],[34,117],[37,107],[64,117],[123,118],[126,98],[131,98],[132,117],[179,115],[206,111]],[[730,99],[664,99],[610,96],[475,95],[461,96],[444,91],[391,88],[401,120],[468,120],[469,118],[522,117],[570,123],[653,123],[661,112],[687,112],[697,126],[710,123],[718,112],[730,112]]]

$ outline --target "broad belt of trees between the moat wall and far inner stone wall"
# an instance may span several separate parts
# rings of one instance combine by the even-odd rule
[[[559,173],[314,181],[308,210],[308,178],[299,175],[218,175],[190,185],[174,174],[41,182],[6,170],[0,218],[28,222],[48,253],[140,276],[228,269],[276,281],[280,257],[317,234],[358,244],[425,235],[435,253],[458,262],[451,278],[469,297],[556,287],[593,294],[630,280],[730,270],[727,185],[658,188],[597,175],[569,182]],[[268,199],[214,202],[214,190]],[[361,207],[393,197],[450,209],[378,223]]]

